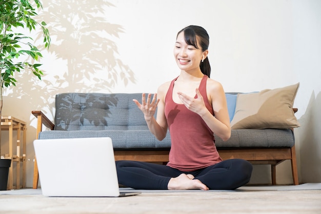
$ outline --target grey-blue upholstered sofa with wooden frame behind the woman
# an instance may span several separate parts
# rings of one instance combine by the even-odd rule
[[[284,88],[282,89],[284,91]],[[264,99],[270,100],[271,91],[275,90],[268,90],[267,92],[270,95],[268,94],[267,98]],[[250,104],[251,107],[249,109],[259,114],[260,110],[253,109],[255,105],[253,100],[257,102],[258,99],[255,96],[258,96],[261,92],[226,93],[232,127],[231,138],[224,142],[215,136],[215,145],[223,160],[240,158],[253,164],[271,165],[272,184],[276,184],[275,166],[285,160],[291,160],[293,183],[297,185],[298,177],[293,134],[293,128],[299,126],[296,118],[292,118],[293,121],[291,121],[294,125],[283,124],[283,127],[282,124],[277,124],[275,121],[274,124],[270,123],[271,125],[265,123],[262,127],[249,126],[243,128],[242,124],[241,126],[239,125],[242,122],[244,123],[244,120],[250,120],[251,124],[254,123],[253,112],[248,112],[251,114],[250,116],[244,115],[246,112],[242,108],[248,108],[246,105]],[[251,97],[253,94],[254,98]],[[277,92],[276,94],[276,96],[280,95]],[[265,94],[260,94],[259,97],[262,98],[264,96]],[[275,96],[275,93],[273,96]],[[284,102],[286,100],[284,94],[280,96],[282,96],[280,102]],[[144,115],[132,101],[133,99],[141,101],[142,93],[56,94],[54,123],[42,111],[32,111],[32,114],[37,118],[36,138],[110,137],[113,141],[115,160],[167,163],[171,147],[170,133],[167,133],[163,141],[158,141],[150,133],[144,120]],[[248,102],[244,102],[244,100],[248,100]],[[264,103],[268,102],[264,101]],[[238,105],[238,103],[244,103],[245,106]],[[272,103],[275,103],[275,101]],[[264,104],[257,108],[262,109],[262,105]],[[294,112],[297,110],[292,108],[293,101],[286,105],[286,110],[293,117]],[[279,116],[283,116],[284,113],[282,112],[281,114],[271,116],[277,119]],[[261,119],[258,118],[258,120]],[[286,120],[286,123],[289,121],[289,119],[282,120]],[[49,130],[42,130],[43,125],[48,127]],[[245,125],[247,125],[246,122]],[[35,161],[33,188],[37,188],[37,183],[38,171]]]

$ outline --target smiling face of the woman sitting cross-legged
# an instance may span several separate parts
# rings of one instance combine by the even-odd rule
[[[200,47],[198,37],[196,36],[197,46]],[[174,57],[177,66],[181,70],[193,71],[199,68],[199,63],[202,61],[204,52],[202,49],[197,49],[192,45],[188,45],[185,42],[184,32],[181,32],[177,36],[177,40],[174,47]]]

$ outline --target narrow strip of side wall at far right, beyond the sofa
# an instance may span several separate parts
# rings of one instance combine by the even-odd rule
[[[321,181],[321,1],[292,4],[293,75],[300,81],[296,104],[302,182]]]

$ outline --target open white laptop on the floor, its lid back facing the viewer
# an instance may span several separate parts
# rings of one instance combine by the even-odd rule
[[[111,138],[46,139],[33,142],[44,196],[122,197]]]

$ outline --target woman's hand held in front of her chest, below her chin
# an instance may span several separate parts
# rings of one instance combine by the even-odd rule
[[[182,92],[177,92],[178,98],[183,102],[183,104],[188,108],[189,110],[200,114],[204,109],[207,109],[204,104],[203,96],[200,94],[198,88],[196,88],[196,95],[197,98],[191,98],[190,96],[186,95]]]

